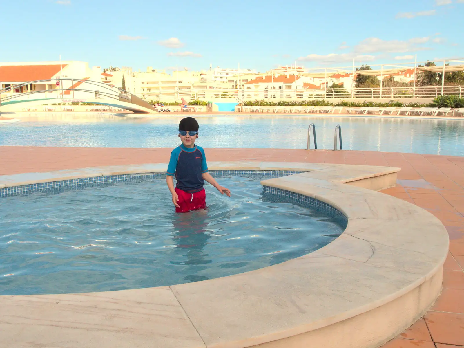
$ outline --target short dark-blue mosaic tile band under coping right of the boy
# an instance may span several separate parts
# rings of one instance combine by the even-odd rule
[[[300,193],[277,189],[271,186],[263,186],[263,199],[279,203],[293,203],[305,208],[311,208],[328,214],[330,217],[334,218],[343,229],[346,229],[348,225],[348,217],[340,210],[316,198],[308,197]]]

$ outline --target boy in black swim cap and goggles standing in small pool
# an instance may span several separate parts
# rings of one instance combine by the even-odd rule
[[[182,118],[179,135],[182,144],[171,152],[166,183],[173,196],[176,213],[206,208],[205,180],[221,194],[231,196],[231,191],[219,185],[208,173],[205,151],[195,146],[198,138],[198,122],[193,117]],[[174,174],[177,180],[174,188]]]

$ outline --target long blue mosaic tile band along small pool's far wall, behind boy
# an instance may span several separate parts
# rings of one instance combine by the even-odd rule
[[[262,178],[269,179],[274,177],[284,177],[287,175],[303,173],[303,171],[209,171],[214,177],[226,177],[226,176],[243,176],[251,178]],[[71,180],[60,180],[52,181],[48,183],[40,184],[28,184],[22,186],[12,186],[0,189],[0,197],[17,196],[21,194],[27,194],[34,191],[51,191],[62,192],[65,189],[77,189],[91,187],[96,184],[112,184],[122,181],[133,181],[141,179],[164,179],[166,172],[156,173],[145,173],[145,174],[122,174],[122,175],[110,175],[103,177],[84,177],[80,179]]]

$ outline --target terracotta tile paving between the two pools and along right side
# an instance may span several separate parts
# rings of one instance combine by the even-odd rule
[[[0,146],[0,175],[121,164],[166,163],[167,148]],[[208,161],[278,161],[401,167],[382,192],[430,211],[445,225],[450,253],[443,291],[424,318],[383,348],[464,346],[464,158],[377,151],[205,149]]]

